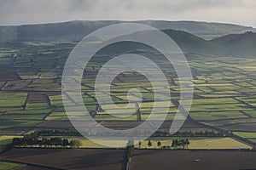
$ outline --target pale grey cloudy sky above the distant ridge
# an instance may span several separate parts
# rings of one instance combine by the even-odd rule
[[[204,20],[256,27],[256,0],[0,0],[0,25],[67,20]]]

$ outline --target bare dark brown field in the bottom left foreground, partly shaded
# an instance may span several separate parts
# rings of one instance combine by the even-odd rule
[[[0,159],[55,169],[115,170],[124,169],[124,156],[125,150],[13,149]]]

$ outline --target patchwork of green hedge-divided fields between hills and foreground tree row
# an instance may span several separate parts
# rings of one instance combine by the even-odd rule
[[[42,128],[66,127],[68,118],[62,104],[61,74],[75,43],[28,45],[7,43],[0,46],[0,135],[24,135]],[[172,95],[170,110],[166,121],[172,121],[177,112],[179,100],[179,82],[172,65],[152,52],[135,51],[148,55],[163,68]],[[82,80],[82,96],[88,111],[98,109],[94,81],[102,65],[109,56],[98,55],[91,59]],[[189,65],[193,74],[194,100],[189,116],[196,122],[220,127],[255,142],[256,132],[256,59],[225,57],[189,56]],[[171,67],[171,69],[170,69]],[[127,93],[137,88],[143,95],[139,111],[131,116],[122,109],[128,104]],[[116,77],[111,86],[111,97],[120,109],[112,109],[106,103],[106,111],[97,111],[94,116],[98,122],[109,121],[141,122],[148,118],[154,105],[154,97],[159,105],[164,94],[154,94],[151,83],[142,75],[124,72]],[[137,94],[131,94],[137,101]],[[137,105],[134,102],[134,105]],[[74,112],[79,115],[81,111]],[[112,115],[109,115],[110,112]],[[159,113],[161,114],[161,113]],[[157,120],[157,116],[155,118]],[[164,128],[166,131],[169,127]],[[187,128],[193,130],[195,127]],[[198,127],[196,127],[198,128]],[[203,130],[205,127],[200,127]],[[185,127],[182,130],[186,129]],[[250,133],[248,133],[250,132]],[[2,143],[6,136],[0,137]],[[0,143],[1,143],[0,141]],[[238,142],[239,143],[239,142]],[[239,144],[227,146],[241,147]],[[85,144],[86,145],[86,144]],[[84,145],[84,146],[85,146]],[[195,146],[196,148],[196,146]]]

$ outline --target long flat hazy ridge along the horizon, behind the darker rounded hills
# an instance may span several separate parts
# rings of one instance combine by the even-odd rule
[[[119,20],[74,20],[53,24],[0,26],[0,42],[28,42],[28,41],[79,41],[84,36],[104,26],[128,21]],[[154,26],[160,30],[186,31],[197,37],[210,40],[229,34],[241,34],[256,30],[250,26],[238,26],[222,23],[208,23],[196,21],[165,21],[141,20],[134,23]]]

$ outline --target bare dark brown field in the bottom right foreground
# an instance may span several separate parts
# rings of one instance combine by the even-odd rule
[[[256,152],[241,150],[134,150],[128,170],[144,169],[256,169]]]

